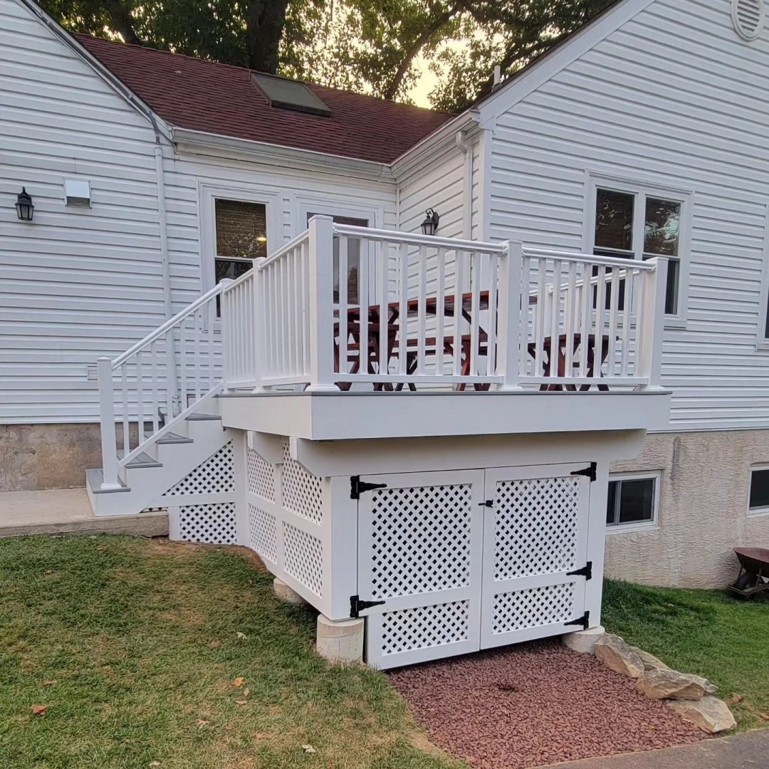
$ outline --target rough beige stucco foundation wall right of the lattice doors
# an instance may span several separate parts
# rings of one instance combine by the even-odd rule
[[[638,458],[611,471],[661,471],[659,519],[606,535],[607,576],[679,588],[734,581],[732,548],[769,545],[769,515],[747,513],[751,464],[767,458],[765,430],[647,436]]]

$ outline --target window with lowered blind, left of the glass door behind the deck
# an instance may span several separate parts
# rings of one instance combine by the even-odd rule
[[[267,206],[215,198],[215,282],[239,278],[267,256]]]

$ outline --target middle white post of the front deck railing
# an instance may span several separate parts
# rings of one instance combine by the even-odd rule
[[[499,270],[497,375],[504,378],[496,390],[520,390],[521,383],[521,271],[524,246],[507,241]],[[494,286],[491,286],[494,291]]]

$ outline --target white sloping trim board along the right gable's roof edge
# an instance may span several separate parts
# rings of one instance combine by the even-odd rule
[[[514,76],[501,88],[488,95],[480,105],[481,124],[491,116],[498,116],[520,102],[522,98],[550,80],[561,69],[576,61],[586,52],[611,35],[625,22],[630,21],[656,0],[621,0],[614,8],[604,12],[588,25],[574,32],[560,48],[543,55],[517,77]]]

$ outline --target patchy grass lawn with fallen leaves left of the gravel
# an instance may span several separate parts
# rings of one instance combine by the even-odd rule
[[[326,664],[314,638],[315,615],[239,553],[0,540],[0,767],[461,765],[384,674]]]

